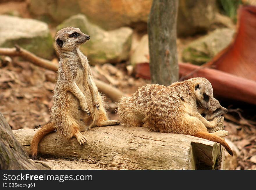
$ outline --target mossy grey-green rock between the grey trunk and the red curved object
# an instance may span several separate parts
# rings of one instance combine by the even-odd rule
[[[234,33],[234,29],[221,28],[198,38],[183,50],[182,60],[199,65],[210,61],[231,43]]]

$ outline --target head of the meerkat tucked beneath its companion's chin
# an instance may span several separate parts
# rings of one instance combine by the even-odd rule
[[[227,109],[222,107],[218,100],[212,98],[210,101],[210,108],[206,110],[198,105],[198,112],[208,121],[212,121],[215,117],[227,113]]]

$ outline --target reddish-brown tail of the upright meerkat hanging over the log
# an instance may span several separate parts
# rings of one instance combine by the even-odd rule
[[[47,135],[50,132],[55,131],[54,123],[47,123],[45,126],[43,126],[41,129],[39,129],[35,135],[33,136],[33,139],[31,141],[31,150],[32,150],[32,159],[37,158],[37,151],[38,151],[38,144],[42,140],[42,138]]]

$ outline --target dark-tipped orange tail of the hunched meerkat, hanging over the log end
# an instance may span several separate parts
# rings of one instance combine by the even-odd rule
[[[213,135],[211,133],[208,132],[197,132],[195,135],[193,135],[195,137],[200,137],[202,139],[207,139],[210,141],[214,141],[214,142],[218,142],[220,143],[222,146],[224,146],[224,148],[227,150],[227,152],[233,156],[233,151],[231,150],[230,146],[228,146],[228,144],[226,143],[226,141],[224,139],[222,139],[221,137],[218,137],[216,135]]]

